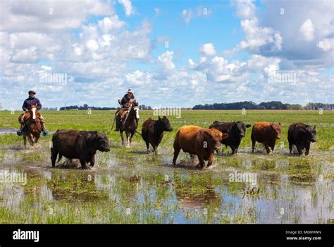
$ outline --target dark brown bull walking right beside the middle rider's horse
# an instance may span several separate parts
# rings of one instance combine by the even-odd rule
[[[166,116],[163,116],[163,118],[158,118],[158,120],[153,120],[149,118],[142,124],[142,139],[146,142],[147,146],[147,153],[149,153],[149,144],[151,144],[153,151],[156,151],[156,148],[158,148],[162,138],[163,138],[163,132],[173,131],[171,124],[166,118]]]

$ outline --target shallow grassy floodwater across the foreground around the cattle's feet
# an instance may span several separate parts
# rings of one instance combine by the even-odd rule
[[[111,147],[80,170],[65,159],[52,168],[47,142],[2,146],[0,174],[26,174],[27,183],[0,183],[0,222],[333,223],[333,151],[267,156],[259,146],[220,153],[199,170],[185,153],[171,165],[171,148],[148,155],[142,143]],[[256,184],[230,179],[247,172]]]

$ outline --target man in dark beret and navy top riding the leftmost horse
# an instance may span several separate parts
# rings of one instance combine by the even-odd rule
[[[23,106],[22,109],[25,111],[25,113],[20,115],[20,130],[18,131],[18,135],[22,135],[23,134],[23,129],[25,128],[26,125],[26,121],[27,118],[29,118],[29,111],[31,109],[32,106],[37,106],[37,110],[40,110],[42,108],[42,104],[39,101],[39,99],[35,98],[35,91],[29,91],[28,92],[29,97],[27,99],[25,99],[25,101],[23,102]],[[46,136],[48,134],[47,130],[45,129],[45,122],[44,122],[44,118],[42,117],[41,113],[37,114],[37,118],[39,120],[39,122],[41,123],[41,127],[42,127],[42,134],[44,136]]]

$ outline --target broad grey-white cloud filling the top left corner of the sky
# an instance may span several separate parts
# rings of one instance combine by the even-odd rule
[[[1,1],[0,31],[45,32],[80,28],[89,15],[111,15],[108,2],[99,0]],[[66,25],[64,25],[66,23]]]

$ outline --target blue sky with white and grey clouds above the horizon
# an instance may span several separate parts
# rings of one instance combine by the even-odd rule
[[[333,3],[4,0],[0,103],[333,103]]]

